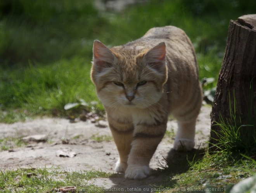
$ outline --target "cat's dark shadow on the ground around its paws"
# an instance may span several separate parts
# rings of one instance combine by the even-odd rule
[[[193,149],[189,152],[178,152],[171,149],[165,158],[167,166],[159,162],[159,169],[153,170],[151,176],[141,180],[125,179],[124,174],[113,174],[111,187],[106,192],[140,192],[148,193],[152,191],[175,191],[176,179],[175,174],[185,173],[190,168],[190,162],[202,159],[205,154],[203,149]],[[107,183],[107,181],[106,181]]]

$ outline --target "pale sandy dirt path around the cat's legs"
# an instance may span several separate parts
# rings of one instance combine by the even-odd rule
[[[210,111],[209,107],[203,106],[197,119],[195,149],[199,144],[201,144],[200,148],[206,147],[210,133]],[[173,129],[176,132],[176,121],[169,121],[167,129]],[[0,152],[2,171],[28,167],[57,167],[67,171],[95,169],[114,173],[114,166],[118,159],[114,142],[97,142],[92,139],[93,135],[111,136],[107,121],[100,121],[99,126],[98,123],[91,123],[90,120],[70,123],[66,119],[43,118],[10,125],[0,123],[0,131],[0,138],[22,136],[27,137],[28,141],[26,147]],[[39,136],[34,136],[33,139],[31,135]],[[36,137],[38,137],[37,140]],[[164,158],[170,154],[172,142],[173,138],[164,138],[159,144],[150,161],[152,169],[159,168],[159,162],[165,165]],[[69,155],[69,157],[62,155]],[[123,188],[126,192],[129,190],[130,192],[150,192],[152,184],[160,183],[161,179],[156,179],[154,176],[144,180],[128,180],[122,176],[88,181],[88,184],[112,188],[110,192],[114,192],[114,188]]]

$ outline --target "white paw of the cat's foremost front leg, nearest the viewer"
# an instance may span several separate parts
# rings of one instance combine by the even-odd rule
[[[128,166],[125,171],[125,178],[128,179],[143,179],[149,176],[150,168],[148,166]]]

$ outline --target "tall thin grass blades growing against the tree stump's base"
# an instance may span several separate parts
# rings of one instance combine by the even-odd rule
[[[247,115],[239,113],[237,109],[237,101],[235,99],[235,91],[233,92],[233,99],[229,93],[229,111],[228,117],[224,118],[219,115],[220,122],[215,121],[215,125],[219,127],[219,131],[213,132],[216,134],[215,144],[212,144],[216,152],[213,154],[225,155],[225,160],[237,161],[241,156],[255,157],[256,152],[256,115],[253,106],[253,93],[250,87],[249,97],[251,101],[247,104]],[[231,105],[233,103],[233,105]],[[244,116],[242,120],[241,116]],[[242,123],[243,122],[243,123]]]

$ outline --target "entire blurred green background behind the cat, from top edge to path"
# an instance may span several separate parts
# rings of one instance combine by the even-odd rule
[[[1,0],[0,121],[63,116],[67,103],[97,101],[90,81],[93,40],[115,46],[157,26],[177,26],[188,34],[200,79],[215,78],[205,88],[210,89],[229,20],[254,13],[255,0],[149,0],[121,12],[98,10],[92,0]]]

